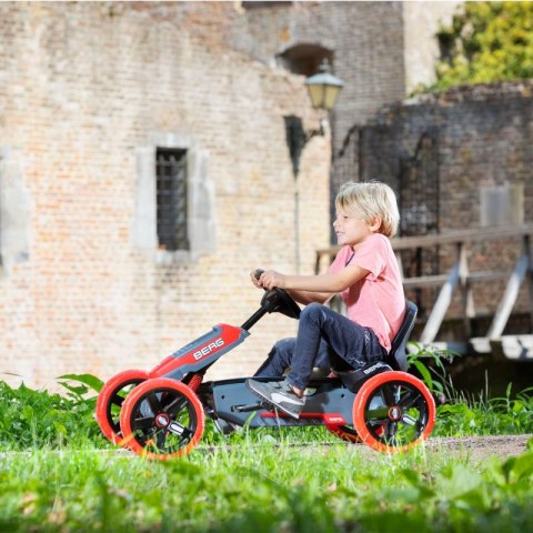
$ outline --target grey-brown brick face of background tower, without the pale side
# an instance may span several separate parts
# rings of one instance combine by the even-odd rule
[[[383,104],[405,97],[402,2],[293,2],[244,14],[233,26],[232,43],[260,61],[272,63],[296,44],[333,52],[334,74],[344,81],[331,113],[335,151],[354,123],[364,123]],[[350,171],[336,169],[333,195],[340,183],[353,179]]]

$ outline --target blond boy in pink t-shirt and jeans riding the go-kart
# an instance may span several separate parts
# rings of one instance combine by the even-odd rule
[[[273,270],[251,274],[255,286],[286,290],[305,304],[295,340],[274,345],[255,375],[281,375],[279,383],[248,380],[249,389],[280,411],[298,419],[313,366],[324,366],[328,345],[354,369],[382,361],[405,312],[405,296],[390,238],[400,214],[392,189],[379,182],[344,183],[335,199],[333,228],[342,245],[326,274],[285,275]],[[324,303],[340,293],[348,318]]]

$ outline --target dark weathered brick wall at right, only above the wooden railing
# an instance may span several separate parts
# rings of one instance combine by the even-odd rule
[[[380,175],[391,183],[422,133],[438,139],[441,231],[479,225],[482,185],[523,184],[526,221],[533,220],[531,81],[423,94],[384,107],[363,130],[361,178]]]

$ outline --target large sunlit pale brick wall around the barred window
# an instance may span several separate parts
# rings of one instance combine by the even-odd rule
[[[218,322],[241,324],[261,296],[252,268],[294,269],[283,115],[318,115],[299,77],[230,48],[239,16],[233,3],[0,4],[1,372],[52,385],[152,368]],[[217,231],[213,251],[170,264],[132,235],[137,153],[165,134],[201,150]],[[329,145],[314,138],[302,157],[308,272],[328,243]],[[250,373],[294,331],[266,316],[210,375]]]

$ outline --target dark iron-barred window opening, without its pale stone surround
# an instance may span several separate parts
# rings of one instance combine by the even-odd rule
[[[162,250],[189,250],[187,228],[187,150],[155,152],[157,232]]]

